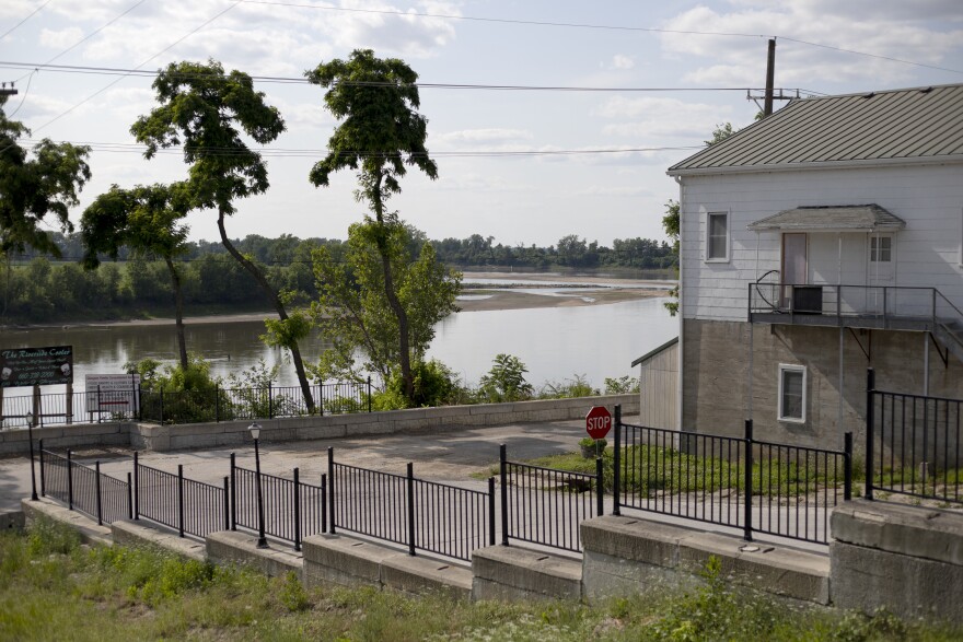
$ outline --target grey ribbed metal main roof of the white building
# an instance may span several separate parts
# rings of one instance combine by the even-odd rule
[[[941,160],[963,161],[963,84],[793,101],[669,174]]]

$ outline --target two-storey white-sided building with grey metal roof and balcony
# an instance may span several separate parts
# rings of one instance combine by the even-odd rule
[[[794,101],[669,174],[680,428],[838,447],[870,365],[963,397],[963,84]]]

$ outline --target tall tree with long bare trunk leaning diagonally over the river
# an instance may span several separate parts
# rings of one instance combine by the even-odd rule
[[[267,144],[285,130],[276,107],[265,103],[264,93],[254,91],[251,77],[237,70],[224,73],[214,60],[171,63],[158,73],[153,83],[160,106],[141,116],[130,128],[147,145],[144,156],[153,157],[159,148],[184,144],[184,162],[190,164],[186,183],[192,203],[218,211],[221,243],[234,260],[254,278],[274,305],[280,325],[290,325],[282,337],[291,353],[301,394],[309,412],[314,399],[304,372],[298,341],[306,336],[300,319],[289,322],[279,293],[271,288],[258,266],[231,243],[224,219],[234,213],[234,199],[263,194],[269,183],[267,164],[242,139],[242,132],[259,144]]]

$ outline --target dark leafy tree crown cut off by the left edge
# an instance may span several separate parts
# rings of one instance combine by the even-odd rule
[[[0,249],[33,247],[59,257],[60,249],[40,224],[53,214],[62,231],[73,231],[68,213],[90,180],[90,148],[45,138],[28,153],[16,139],[30,130],[7,118],[5,103],[7,96],[0,95]]]

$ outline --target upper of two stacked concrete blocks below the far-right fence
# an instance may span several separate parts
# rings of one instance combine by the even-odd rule
[[[855,500],[832,515],[837,541],[963,565],[963,515],[886,502]]]

